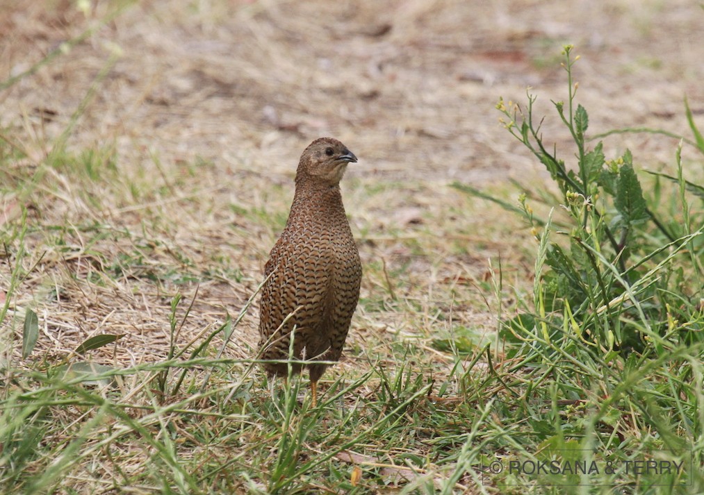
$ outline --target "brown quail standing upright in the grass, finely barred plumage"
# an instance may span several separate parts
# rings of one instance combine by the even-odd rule
[[[342,353],[359,299],[362,265],[340,193],[340,179],[357,157],[337,139],[321,138],[303,151],[286,228],[264,267],[260,359],[308,361],[313,406],[318,380]],[[294,330],[295,329],[295,330]],[[264,362],[270,375],[288,374],[286,362]]]

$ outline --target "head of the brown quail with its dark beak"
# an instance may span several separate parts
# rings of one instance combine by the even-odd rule
[[[301,161],[298,162],[296,184],[302,181],[314,181],[336,186],[342,179],[347,164],[356,161],[357,157],[354,153],[337,139],[316,139],[306,150],[303,150]]]

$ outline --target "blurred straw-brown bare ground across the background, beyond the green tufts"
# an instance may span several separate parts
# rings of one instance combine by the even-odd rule
[[[86,18],[68,1],[2,4],[3,79],[115,6],[87,2]],[[565,98],[562,44],[582,56],[592,129],[684,133],[683,96],[704,113],[700,39],[704,11],[687,0],[144,1],[3,91],[0,122],[44,111],[55,125],[42,132],[63,129],[117,49],[76,144],[117,140],[127,156],[146,146],[165,161],[250,160],[290,174],[299,150],[329,134],[361,158],[351,175],[502,179],[529,159],[494,103],[524,101],[527,86],[546,112]],[[648,158],[668,160],[671,144]]]

